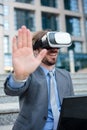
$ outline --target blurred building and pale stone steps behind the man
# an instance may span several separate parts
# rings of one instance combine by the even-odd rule
[[[0,0],[0,130],[12,130],[18,97],[4,93],[12,69],[12,38],[25,25],[32,33],[51,29],[71,34],[72,46],[59,51],[56,66],[70,71],[75,95],[87,96],[87,0]]]

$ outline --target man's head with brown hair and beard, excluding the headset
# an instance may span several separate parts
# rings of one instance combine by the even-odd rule
[[[34,54],[35,56],[38,55],[38,53],[43,49],[41,47],[40,40],[41,38],[47,33],[48,31],[38,31],[33,35],[33,49],[34,49]],[[36,44],[36,45],[35,45]],[[42,64],[45,64],[47,66],[52,66],[56,63],[57,59],[57,54],[58,54],[58,49],[57,48],[47,48],[47,53],[46,56],[42,60]]]

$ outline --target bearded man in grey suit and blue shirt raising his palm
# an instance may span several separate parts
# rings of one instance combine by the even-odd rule
[[[20,112],[13,130],[56,130],[62,100],[65,96],[73,95],[69,72],[55,67],[58,48],[43,49],[37,46],[46,33],[37,32],[32,38],[31,32],[22,26],[18,30],[18,37],[13,38],[13,72],[6,79],[4,87],[6,94],[19,96]],[[50,71],[54,72],[53,96],[56,94],[57,120],[52,110],[56,103],[51,105],[50,100]]]

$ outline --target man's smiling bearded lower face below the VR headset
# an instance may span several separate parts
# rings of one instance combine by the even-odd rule
[[[51,48],[47,50],[46,56],[43,58],[42,62],[48,66],[54,65],[57,60],[57,54],[58,54],[58,49]]]

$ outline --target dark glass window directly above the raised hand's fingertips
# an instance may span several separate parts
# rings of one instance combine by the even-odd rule
[[[15,9],[15,27],[19,29],[26,25],[31,31],[35,31],[35,15],[33,11]]]

